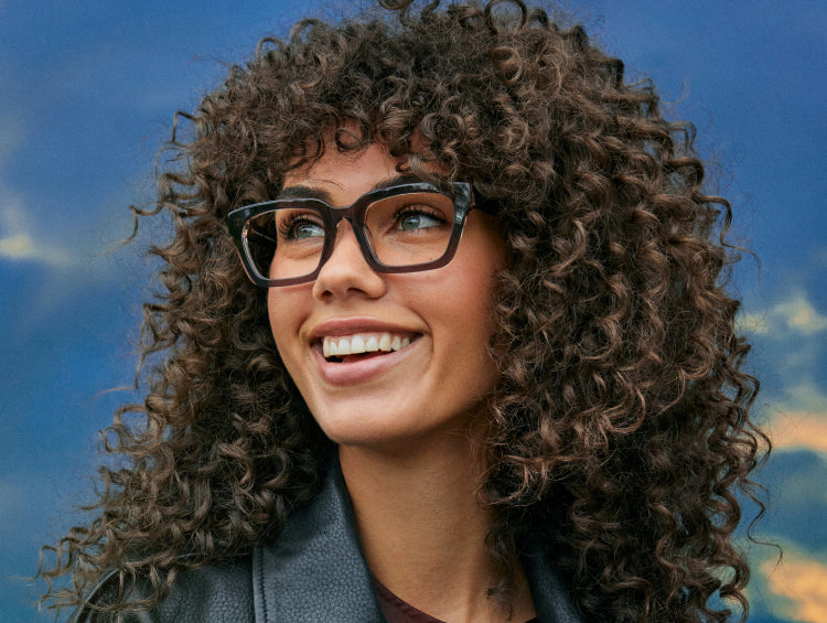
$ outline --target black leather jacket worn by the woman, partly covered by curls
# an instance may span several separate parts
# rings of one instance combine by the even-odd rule
[[[545,556],[523,565],[543,623],[580,623],[580,616]],[[104,577],[89,602],[104,603],[117,590],[115,572]],[[132,594],[144,594],[133,587]],[[111,616],[111,615],[109,615]],[[107,621],[88,605],[69,623]],[[319,495],[288,519],[271,544],[232,563],[182,573],[170,595],[150,612],[129,613],[125,623],[385,623],[362,554],[351,502],[336,462]]]

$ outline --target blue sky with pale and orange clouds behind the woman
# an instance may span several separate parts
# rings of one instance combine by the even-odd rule
[[[136,399],[150,269],[130,204],[152,197],[175,110],[320,1],[0,0],[0,620],[51,620],[28,579],[78,518],[98,431]],[[340,7],[347,7],[341,2]],[[743,543],[750,621],[827,621],[827,3],[582,0],[576,21],[691,120],[752,249],[732,276],[775,451]],[[752,513],[752,508],[748,508]]]

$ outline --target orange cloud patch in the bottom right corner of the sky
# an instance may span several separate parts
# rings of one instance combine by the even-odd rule
[[[827,621],[827,565],[786,550],[783,561],[761,563],[771,593],[782,598],[781,614],[803,623]]]

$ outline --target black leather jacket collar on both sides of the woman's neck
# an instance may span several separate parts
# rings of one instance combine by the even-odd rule
[[[536,544],[523,557],[537,617],[579,623],[562,581]],[[384,623],[339,460],[319,494],[253,554],[256,621]]]

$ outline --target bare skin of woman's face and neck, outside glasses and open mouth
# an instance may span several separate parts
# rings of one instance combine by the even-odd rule
[[[380,144],[326,151],[292,171],[284,189],[323,193],[331,205],[399,175]],[[340,459],[368,566],[394,593],[448,621],[503,621],[485,590],[496,584],[479,504],[484,396],[496,383],[487,353],[493,276],[506,249],[488,216],[469,214],[457,255],[437,270],[386,275],[365,262],[340,223],[335,249],[312,283],[271,288],[268,308],[281,357]],[[323,335],[410,335],[397,353],[330,363]],[[400,561],[405,561],[400,565]],[[534,614],[523,589],[519,622]]]

